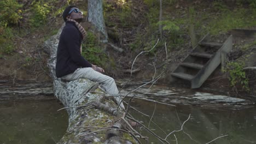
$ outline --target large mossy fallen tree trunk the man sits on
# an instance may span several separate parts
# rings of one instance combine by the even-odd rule
[[[63,26],[62,26],[63,28]],[[98,83],[87,79],[61,81],[55,76],[56,52],[60,31],[45,41],[45,50],[50,53],[48,67],[54,84],[54,95],[66,107],[69,115],[67,133],[60,143],[137,143],[124,132],[125,121],[117,121],[123,112],[117,110],[113,100],[108,100]]]

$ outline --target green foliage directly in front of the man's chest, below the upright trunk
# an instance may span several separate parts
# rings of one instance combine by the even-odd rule
[[[96,65],[105,65],[107,62],[107,56],[103,52],[102,48],[98,45],[98,41],[94,33],[88,32],[86,35],[86,41],[83,44],[82,55],[91,63]]]

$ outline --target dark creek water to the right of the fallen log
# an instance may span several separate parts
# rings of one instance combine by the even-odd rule
[[[137,109],[152,116],[155,104],[148,103],[146,101],[135,101],[133,104]],[[143,122],[144,125],[148,125],[149,117],[142,116],[138,112],[133,112],[135,118]],[[228,135],[222,137],[212,143],[256,143],[256,107],[247,110],[202,110],[200,107],[193,106],[178,106],[176,108],[171,106],[165,106],[158,104],[154,113],[153,121],[158,123],[161,131],[153,123],[150,123],[150,129],[159,136],[165,138],[166,135],[173,130],[181,129],[182,123],[188,119],[189,114],[191,117],[188,122],[184,124],[183,131],[174,133],[177,137],[178,143],[207,143],[216,137]],[[160,143],[157,139],[145,130],[139,131],[143,135],[149,137],[149,143]],[[168,137],[169,141],[176,143],[174,135]],[[144,143],[146,143],[144,141]]]

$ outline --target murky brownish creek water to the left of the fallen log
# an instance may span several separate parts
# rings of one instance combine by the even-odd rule
[[[68,124],[66,111],[55,100],[1,101],[1,144],[51,144],[65,134]]]

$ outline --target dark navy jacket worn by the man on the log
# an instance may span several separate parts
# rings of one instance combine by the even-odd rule
[[[78,68],[91,67],[91,63],[80,53],[83,36],[74,22],[67,21],[63,28],[57,49],[56,76],[73,73]]]

